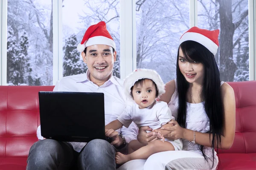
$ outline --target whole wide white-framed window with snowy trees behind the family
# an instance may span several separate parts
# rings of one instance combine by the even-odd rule
[[[116,42],[116,77],[137,67],[175,79],[179,38],[198,26],[220,29],[222,81],[253,80],[254,7],[255,0],[0,0],[0,85],[55,85],[85,73],[76,46],[102,20]]]

